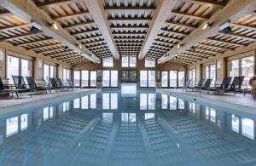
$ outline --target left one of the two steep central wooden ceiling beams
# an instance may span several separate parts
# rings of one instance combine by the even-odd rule
[[[102,36],[104,37],[108,48],[113,54],[114,59],[119,60],[119,52],[113,40],[112,31],[109,26],[107,14],[105,13],[102,0],[85,0],[84,2],[88,10],[90,11],[90,14],[95,21],[97,27],[101,31]]]

